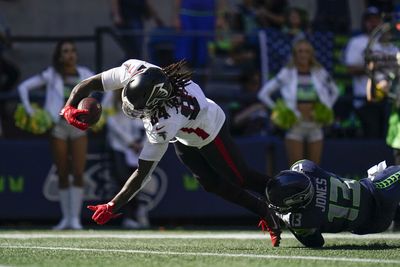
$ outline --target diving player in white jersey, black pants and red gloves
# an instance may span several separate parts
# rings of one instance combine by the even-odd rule
[[[279,246],[280,227],[274,212],[264,199],[268,176],[248,168],[233,142],[225,114],[183,70],[184,62],[160,68],[131,59],[79,83],[61,114],[80,128],[87,110],[77,109],[79,101],[94,90],[122,90],[122,110],[131,118],[140,118],[147,140],[139,156],[138,169],[127,179],[121,191],[107,204],[89,206],[98,224],[115,218],[118,209],[143,188],[171,140],[176,154],[206,191],[236,203],[261,217],[270,232],[273,246]],[[247,190],[254,191],[249,192]]]

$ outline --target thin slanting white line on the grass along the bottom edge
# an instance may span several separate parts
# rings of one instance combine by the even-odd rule
[[[209,253],[209,252],[174,252],[174,251],[153,251],[153,250],[131,250],[131,249],[94,249],[94,248],[73,248],[73,247],[41,247],[41,246],[7,246],[0,245],[0,248],[10,249],[36,249],[36,250],[63,250],[79,252],[117,252],[128,254],[152,254],[152,255],[178,255],[178,256],[212,256],[212,257],[232,257],[232,258],[257,258],[257,259],[283,259],[283,260],[308,260],[308,261],[339,261],[339,262],[359,262],[359,263],[380,263],[380,264],[399,264],[400,260],[368,259],[368,258],[349,258],[349,257],[321,257],[321,256],[279,256],[279,255],[260,255],[260,254],[233,254],[233,253]]]

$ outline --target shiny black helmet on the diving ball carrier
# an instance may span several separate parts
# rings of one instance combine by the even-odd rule
[[[123,88],[122,110],[131,118],[150,117],[171,95],[172,86],[167,76],[161,69],[151,67],[133,76]]]

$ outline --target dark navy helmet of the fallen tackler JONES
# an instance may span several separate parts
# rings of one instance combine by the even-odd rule
[[[314,186],[304,173],[283,171],[267,184],[266,197],[269,208],[285,214],[309,205]]]

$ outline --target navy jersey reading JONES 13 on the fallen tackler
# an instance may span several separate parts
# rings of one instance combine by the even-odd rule
[[[296,162],[291,170],[305,173],[314,185],[314,197],[305,208],[278,214],[299,240],[324,232],[354,231],[371,217],[373,199],[359,181],[327,172],[309,160]]]

